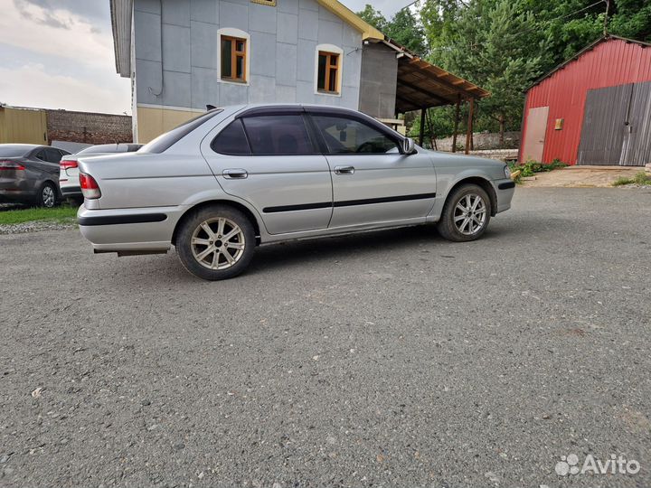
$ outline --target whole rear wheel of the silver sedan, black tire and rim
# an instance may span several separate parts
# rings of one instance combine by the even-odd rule
[[[208,225],[212,236],[202,224]],[[176,252],[181,264],[194,276],[211,281],[228,279],[237,277],[249,266],[256,247],[255,230],[241,211],[228,205],[211,205],[194,211],[180,225],[176,235]],[[240,232],[236,232],[228,241],[222,241],[222,237],[236,230],[234,226]],[[223,235],[218,233],[220,229]],[[205,252],[208,254],[203,256]],[[233,260],[232,263],[227,255]]]

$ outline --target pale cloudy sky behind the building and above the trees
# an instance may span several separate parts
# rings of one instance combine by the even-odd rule
[[[343,3],[391,16],[410,0]],[[0,0],[0,103],[130,114],[129,87],[115,72],[109,0]]]

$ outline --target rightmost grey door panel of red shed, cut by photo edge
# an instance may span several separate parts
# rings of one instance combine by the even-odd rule
[[[646,163],[651,163],[651,81],[633,85],[619,158],[623,166]]]

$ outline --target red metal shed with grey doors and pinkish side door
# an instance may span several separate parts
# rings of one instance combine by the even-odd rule
[[[651,44],[608,35],[527,90],[520,161],[651,163]]]

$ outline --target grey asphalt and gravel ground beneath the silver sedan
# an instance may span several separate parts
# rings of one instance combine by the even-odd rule
[[[647,486],[650,217],[519,189],[477,242],[293,242],[215,283],[0,236],[0,485]]]

